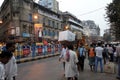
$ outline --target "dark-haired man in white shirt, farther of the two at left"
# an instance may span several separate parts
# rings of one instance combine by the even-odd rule
[[[6,43],[6,49],[4,51],[9,51],[13,53],[15,51],[15,43]],[[5,70],[6,80],[15,80],[15,77],[17,75],[17,64],[14,55],[12,56],[10,61],[5,65]]]

